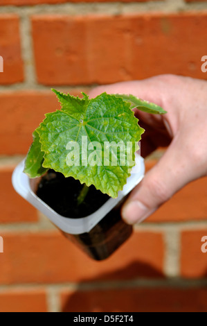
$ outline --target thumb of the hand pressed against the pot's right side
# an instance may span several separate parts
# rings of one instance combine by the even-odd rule
[[[178,141],[172,141],[165,155],[132,191],[122,208],[126,223],[141,223],[192,180],[189,160],[181,147]]]

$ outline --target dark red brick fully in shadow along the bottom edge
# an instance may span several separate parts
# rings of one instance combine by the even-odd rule
[[[206,289],[109,289],[62,293],[62,311],[207,312]]]

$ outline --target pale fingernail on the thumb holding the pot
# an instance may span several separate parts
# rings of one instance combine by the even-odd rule
[[[125,207],[123,207],[123,219],[128,224],[141,223],[149,216],[149,208],[147,208],[140,201],[131,201]]]

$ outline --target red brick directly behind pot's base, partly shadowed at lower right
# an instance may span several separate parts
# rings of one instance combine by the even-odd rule
[[[98,282],[163,277],[161,234],[139,232],[105,261],[93,261],[60,232],[1,234],[0,284]]]

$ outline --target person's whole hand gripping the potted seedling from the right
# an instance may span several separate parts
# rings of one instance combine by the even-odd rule
[[[207,82],[162,75],[96,87],[89,96],[102,92],[133,94],[168,111],[160,116],[135,110],[146,130],[141,155],[146,157],[156,148],[168,146],[123,206],[122,216],[128,224],[141,223],[179,189],[207,175]]]

